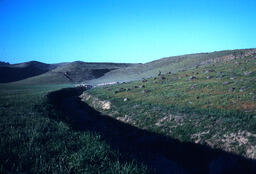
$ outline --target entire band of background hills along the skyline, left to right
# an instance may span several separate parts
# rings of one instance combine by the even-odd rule
[[[145,64],[71,63],[45,64],[31,61],[0,66],[0,83],[61,84],[86,82],[92,85],[108,82],[128,82],[155,77],[161,72],[176,73],[215,62],[229,61],[250,55],[256,49],[215,51],[158,59]]]

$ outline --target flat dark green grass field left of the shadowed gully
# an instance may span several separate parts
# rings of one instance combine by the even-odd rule
[[[0,85],[0,173],[149,173],[89,131],[73,130],[46,99],[70,85]]]

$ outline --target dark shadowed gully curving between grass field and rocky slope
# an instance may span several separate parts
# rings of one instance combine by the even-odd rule
[[[73,129],[100,134],[127,159],[135,159],[164,174],[256,174],[256,160],[206,145],[180,142],[102,115],[81,102],[78,96],[83,91],[62,89],[49,93],[48,99],[68,116]]]

